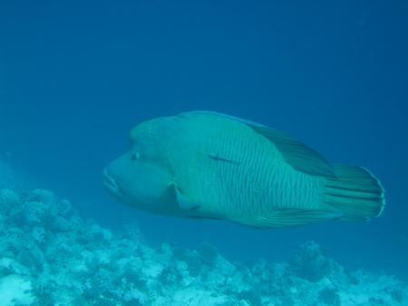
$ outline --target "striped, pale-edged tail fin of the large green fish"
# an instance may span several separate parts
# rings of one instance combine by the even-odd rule
[[[323,202],[340,211],[340,220],[367,220],[385,206],[384,188],[364,167],[335,166],[325,183]]]

